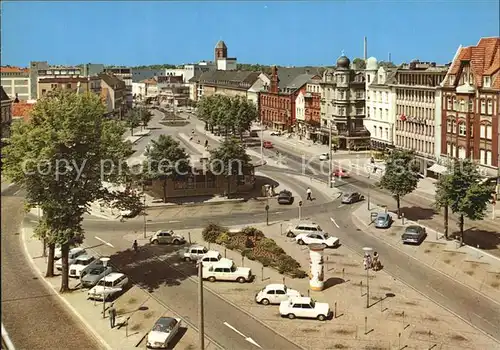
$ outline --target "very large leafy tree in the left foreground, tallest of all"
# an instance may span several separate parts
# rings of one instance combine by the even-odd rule
[[[37,101],[29,122],[13,126],[2,150],[3,174],[26,190],[27,208],[42,209],[35,236],[48,243],[48,276],[54,249],[61,247],[61,292],[69,289],[68,251],[84,237],[83,214],[95,200],[119,198],[102,182],[120,181],[127,171],[131,149],[123,141],[123,125],[103,118],[105,111],[95,94],[55,91]]]

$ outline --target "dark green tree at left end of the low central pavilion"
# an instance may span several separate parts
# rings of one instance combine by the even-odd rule
[[[163,202],[167,202],[167,180],[175,175],[185,175],[190,170],[189,156],[170,135],[160,135],[146,149],[143,166],[145,177],[163,180]]]

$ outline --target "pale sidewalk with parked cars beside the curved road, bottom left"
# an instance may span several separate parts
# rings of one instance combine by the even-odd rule
[[[62,302],[102,343],[101,349],[132,350],[137,347],[144,348],[145,336],[160,316],[180,317],[143,289],[132,286],[113,302],[118,315],[117,326],[111,329],[107,313],[104,318],[102,316],[103,303],[87,300],[87,290],[80,289],[78,280],[70,279],[70,287],[73,290],[69,293],[60,294],[58,292],[61,283],[60,277],[43,277],[46,271],[46,260],[40,256],[42,252],[41,242],[32,238],[33,230],[31,228],[23,228],[21,235],[27,258],[33,268],[40,274],[40,278],[47,283],[49,288],[61,298]],[[97,254],[94,255],[98,256]],[[106,307],[109,307],[109,305],[110,303],[106,303]],[[172,348],[197,348],[198,332],[185,321],[182,326],[184,329],[174,338],[171,344]],[[206,344],[206,349],[216,349],[208,339]]]

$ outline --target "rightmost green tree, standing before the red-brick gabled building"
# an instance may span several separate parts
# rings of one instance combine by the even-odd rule
[[[464,221],[482,220],[486,215],[488,202],[494,192],[493,186],[481,183],[477,166],[469,159],[455,159],[448,173],[442,175],[436,184],[436,203],[451,208],[458,215],[460,243],[464,240]],[[445,212],[445,233],[447,231],[448,213]]]

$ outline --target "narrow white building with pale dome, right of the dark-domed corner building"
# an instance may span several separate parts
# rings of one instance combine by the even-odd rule
[[[366,60],[366,118],[365,127],[370,132],[371,147],[394,147],[396,123],[396,94],[389,83],[394,82],[396,68],[378,65],[375,57]]]

